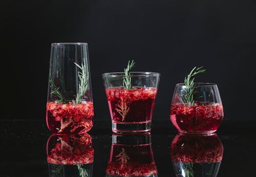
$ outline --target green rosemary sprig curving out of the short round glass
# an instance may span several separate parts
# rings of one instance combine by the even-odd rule
[[[195,103],[195,86],[194,86],[194,80],[195,76],[199,73],[205,73],[206,70],[202,70],[203,67],[194,67],[190,73],[185,77],[184,83],[185,83],[185,91],[186,95],[184,97],[185,102],[187,103],[188,106],[192,106]]]

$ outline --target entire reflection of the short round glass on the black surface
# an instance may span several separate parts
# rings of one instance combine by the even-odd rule
[[[223,157],[223,146],[217,134],[178,134],[170,146],[177,176],[217,176]]]

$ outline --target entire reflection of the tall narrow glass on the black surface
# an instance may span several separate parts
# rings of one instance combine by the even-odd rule
[[[92,137],[53,134],[47,141],[50,177],[92,176],[94,148]]]

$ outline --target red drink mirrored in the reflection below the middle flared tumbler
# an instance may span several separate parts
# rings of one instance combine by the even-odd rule
[[[113,176],[147,176],[157,174],[150,144],[112,144],[106,174]]]

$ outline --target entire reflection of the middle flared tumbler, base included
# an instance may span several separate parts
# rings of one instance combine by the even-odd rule
[[[157,176],[151,147],[151,135],[112,135],[106,176]]]

